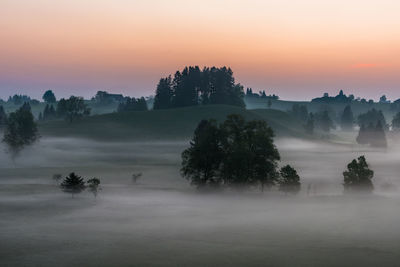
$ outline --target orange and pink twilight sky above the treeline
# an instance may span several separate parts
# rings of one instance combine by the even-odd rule
[[[147,96],[199,65],[282,99],[397,99],[399,11],[389,0],[0,0],[0,97]]]

